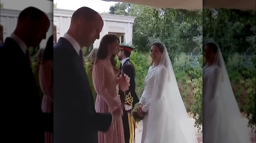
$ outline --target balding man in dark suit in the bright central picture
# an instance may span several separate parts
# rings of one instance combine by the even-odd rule
[[[54,45],[54,143],[97,143],[97,131],[106,132],[121,114],[120,110],[112,115],[96,113],[83,66],[81,48],[99,39],[102,27],[96,11],[79,8],[67,33]]]

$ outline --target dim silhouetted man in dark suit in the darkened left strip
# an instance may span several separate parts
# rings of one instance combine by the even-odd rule
[[[28,52],[46,38],[49,26],[43,11],[25,8],[0,47],[1,136],[6,142],[43,143],[44,131],[53,132],[53,114],[42,113]]]

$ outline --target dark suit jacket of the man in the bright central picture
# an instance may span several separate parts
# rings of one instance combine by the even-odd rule
[[[97,143],[97,131],[106,132],[112,116],[95,111],[82,53],[60,38],[53,55],[54,143]]]

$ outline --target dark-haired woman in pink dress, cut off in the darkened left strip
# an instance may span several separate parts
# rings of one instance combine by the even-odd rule
[[[42,111],[53,112],[53,36],[51,36],[44,50],[43,60],[39,66],[39,82],[44,93]],[[53,133],[45,132],[45,143],[53,143]]]

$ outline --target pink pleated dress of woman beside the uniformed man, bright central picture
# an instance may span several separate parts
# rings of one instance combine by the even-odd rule
[[[97,60],[93,66],[93,83],[97,93],[95,109],[98,113],[109,113],[115,107],[117,97],[117,75],[109,60]],[[98,143],[124,143],[123,121],[120,116],[107,132],[98,132]]]

